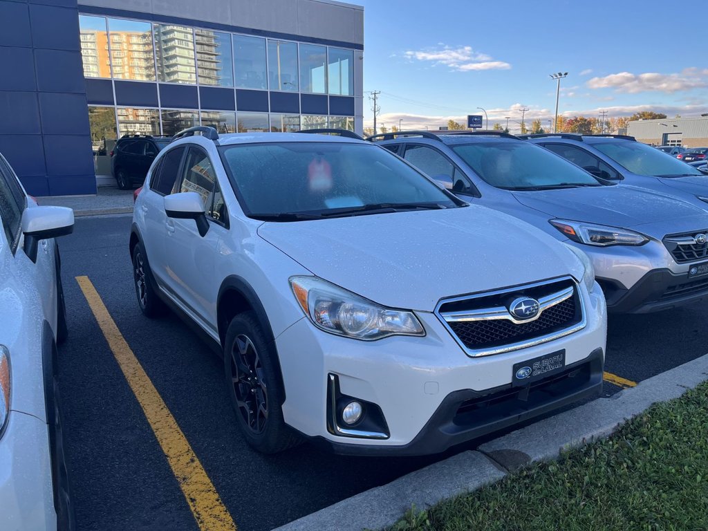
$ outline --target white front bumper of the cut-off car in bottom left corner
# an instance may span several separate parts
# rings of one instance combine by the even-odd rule
[[[18,411],[0,439],[0,529],[57,530],[47,424]]]

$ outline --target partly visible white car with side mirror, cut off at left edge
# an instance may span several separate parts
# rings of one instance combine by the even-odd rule
[[[0,529],[70,530],[57,387],[67,337],[59,249],[70,208],[40,207],[0,155]]]

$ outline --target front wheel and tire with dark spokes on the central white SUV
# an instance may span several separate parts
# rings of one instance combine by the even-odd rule
[[[300,440],[282,418],[285,392],[276,355],[256,314],[244,312],[229,323],[224,340],[229,396],[246,442],[263,454],[282,452]]]

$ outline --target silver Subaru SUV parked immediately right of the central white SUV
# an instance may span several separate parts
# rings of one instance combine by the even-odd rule
[[[708,211],[701,201],[683,200],[669,187],[658,193],[614,185],[501,132],[416,131],[370,140],[465,200],[585,251],[610,312],[656,312],[708,298]]]

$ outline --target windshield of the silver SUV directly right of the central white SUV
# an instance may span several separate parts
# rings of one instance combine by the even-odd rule
[[[575,164],[535,144],[522,141],[474,142],[452,150],[487,183],[510,190],[600,186]]]

